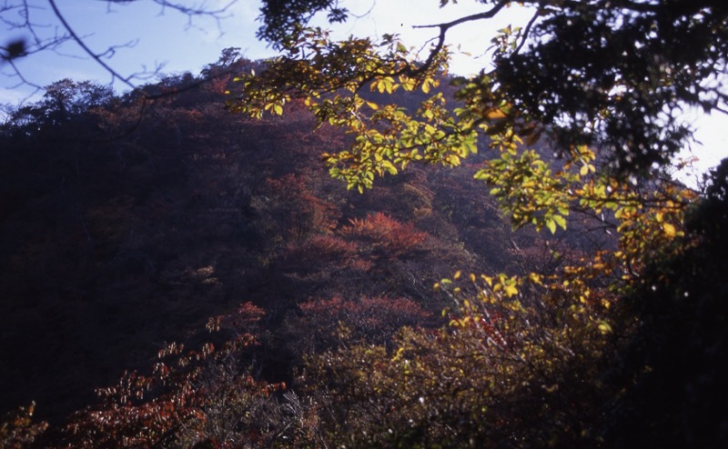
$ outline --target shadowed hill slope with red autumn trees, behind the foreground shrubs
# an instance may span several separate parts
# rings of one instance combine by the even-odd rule
[[[58,423],[246,303],[269,334],[255,369],[289,381],[344,316],[334,304],[373,314],[370,336],[437,326],[450,304],[432,285],[454,271],[522,274],[579,253],[512,234],[475,160],[347,191],[320,164],[343,135],[312,131],[295,103],[263,121],[230,114],[230,75],[217,75],[230,69],[168,76],[144,87],[152,100],[62,80],[3,125],[4,411],[35,400]]]

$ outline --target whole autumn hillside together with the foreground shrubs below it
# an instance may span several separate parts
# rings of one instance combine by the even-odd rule
[[[723,368],[660,370],[672,348],[724,341],[718,290],[684,304],[697,281],[672,275],[706,260],[720,273],[705,248],[724,239],[701,223],[723,229],[724,173],[693,227],[680,217],[695,195],[655,182],[638,189],[648,212],[614,184],[568,230],[566,218],[514,230],[503,195],[538,173],[491,190],[474,179],[500,155],[485,143],[458,169],[410,165],[347,190],[322,154],[353,137],[317,126],[303,100],[283,115],[232,114],[233,74],[265,66],[229,56],[125,95],[62,80],[9,111],[3,444],[624,447],[645,411],[653,429],[704,418],[672,414],[708,397]],[[397,95],[411,110],[428,98]],[[535,155],[569,169],[543,143]],[[693,314],[689,338],[668,338]],[[665,388],[663,413],[652,404]]]

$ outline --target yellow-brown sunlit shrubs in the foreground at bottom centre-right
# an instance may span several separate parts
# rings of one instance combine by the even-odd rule
[[[544,422],[586,419],[583,394],[602,390],[591,383],[596,376],[581,375],[601,369],[612,324],[596,300],[603,292],[581,301],[583,286],[544,281],[458,272],[439,283],[455,301],[443,312],[445,329],[403,329],[390,350],[354,344],[310,357],[304,378],[327,388],[319,397],[335,417],[327,422],[334,441],[418,447],[578,439]]]

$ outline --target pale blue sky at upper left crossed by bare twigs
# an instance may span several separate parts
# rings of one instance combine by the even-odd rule
[[[45,0],[29,0],[37,6],[31,10],[38,27],[48,35],[55,33],[57,20]],[[210,7],[227,2],[207,2]],[[120,75],[128,76],[144,71],[154,71],[157,65],[164,65],[163,73],[177,73],[189,70],[197,74],[205,65],[217,60],[223,48],[241,47],[248,57],[258,58],[270,55],[266,45],[255,39],[258,23],[258,2],[238,1],[229,14],[219,22],[209,17],[196,16],[189,21],[170,9],[163,10],[151,1],[141,0],[127,5],[111,5],[100,0],[56,0],[56,5],[77,35],[95,52],[101,53],[111,45],[120,47],[113,57],[106,59]],[[4,36],[7,35],[4,33]],[[8,37],[27,35],[11,32]],[[23,75],[37,85],[48,85],[63,78],[93,80],[106,84],[111,81],[102,67],[84,55],[78,45],[68,42],[57,52],[44,52],[16,60]],[[0,103],[14,103],[34,89],[18,86],[20,80],[8,77],[10,67],[0,66]],[[143,81],[134,80],[135,84]],[[116,87],[128,88],[116,84]]]

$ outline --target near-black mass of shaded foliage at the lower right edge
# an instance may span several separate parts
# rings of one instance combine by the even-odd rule
[[[721,447],[728,310],[725,187],[728,161],[713,169],[703,200],[685,219],[682,249],[652,258],[623,299],[638,326],[622,353],[615,384],[624,388],[608,417],[614,446]],[[671,394],[664,394],[664,392]],[[639,423],[639,424],[638,424]],[[640,432],[635,426],[649,427]],[[630,435],[629,443],[626,437]]]

